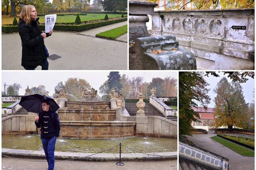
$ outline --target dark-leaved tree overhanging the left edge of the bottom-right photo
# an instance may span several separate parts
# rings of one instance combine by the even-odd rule
[[[192,107],[201,104],[205,109],[210,103],[207,83],[202,72],[179,72],[179,134],[190,135],[191,122],[198,122],[200,115]]]

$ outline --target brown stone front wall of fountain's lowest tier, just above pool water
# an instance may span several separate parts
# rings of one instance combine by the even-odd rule
[[[60,121],[59,137],[76,139],[113,139],[135,136],[136,122]],[[38,129],[38,133],[40,130]]]

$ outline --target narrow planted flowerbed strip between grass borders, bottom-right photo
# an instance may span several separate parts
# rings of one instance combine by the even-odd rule
[[[224,134],[218,134],[217,136],[254,150],[254,139]]]

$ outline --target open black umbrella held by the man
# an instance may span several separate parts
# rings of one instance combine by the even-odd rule
[[[39,114],[42,112],[42,101],[48,100],[50,103],[50,110],[56,112],[59,109],[59,105],[54,101],[53,98],[36,93],[32,95],[24,95],[21,97],[19,105],[21,105],[28,112],[34,112]]]

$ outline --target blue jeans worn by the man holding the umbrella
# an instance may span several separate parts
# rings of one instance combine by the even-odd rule
[[[42,139],[42,145],[44,148],[45,158],[48,162],[48,170],[53,170],[55,158],[54,158],[54,151],[55,151],[55,143],[57,137],[52,137],[51,139]]]

